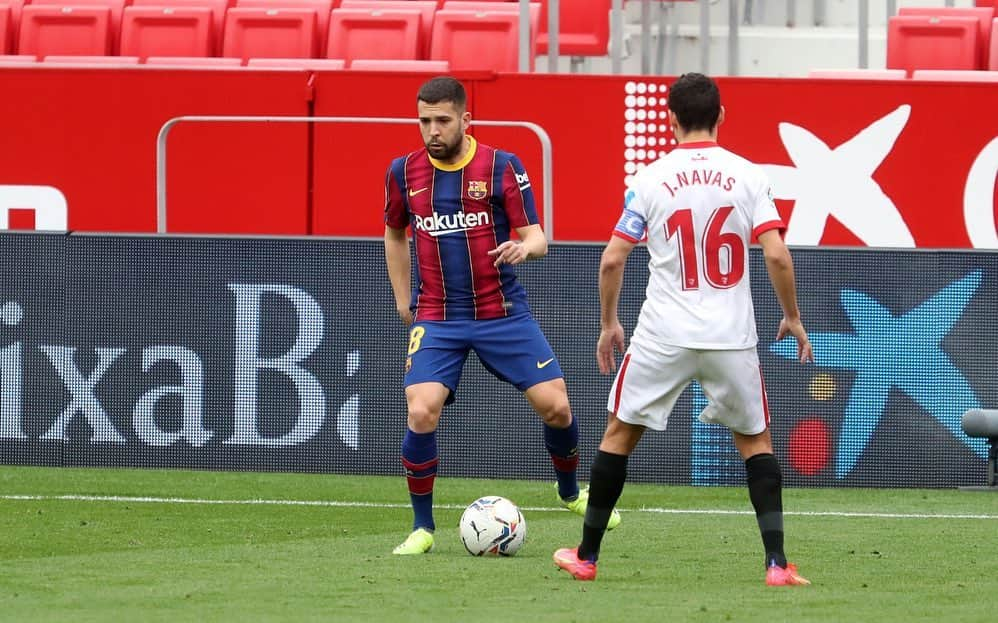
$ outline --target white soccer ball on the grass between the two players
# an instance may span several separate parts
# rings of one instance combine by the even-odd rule
[[[478,498],[461,515],[461,542],[472,556],[512,556],[527,538],[523,513],[504,497]]]

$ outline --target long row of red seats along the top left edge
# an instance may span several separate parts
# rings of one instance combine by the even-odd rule
[[[233,4],[234,2],[234,4]],[[565,54],[606,54],[610,0],[585,6]],[[595,7],[595,11],[593,10]],[[546,51],[545,4],[530,4],[530,65]],[[599,16],[599,19],[593,19]],[[574,37],[574,38],[573,38]],[[517,71],[519,3],[500,0],[0,0],[0,54],[442,60]],[[110,61],[113,62],[113,61]]]

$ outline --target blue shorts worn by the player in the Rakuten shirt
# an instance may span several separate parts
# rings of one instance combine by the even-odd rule
[[[533,316],[525,313],[493,320],[416,322],[409,329],[405,386],[442,383],[451,391],[447,404],[454,402],[469,351],[475,351],[496,378],[521,392],[562,378],[551,345]]]

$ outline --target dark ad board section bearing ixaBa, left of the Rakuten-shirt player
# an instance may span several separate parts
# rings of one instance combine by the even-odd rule
[[[365,412],[391,403],[382,393],[402,400],[401,375],[385,380],[372,363],[402,349],[404,331],[372,343],[357,319],[394,316],[390,289],[328,270],[364,245],[18,233],[3,243],[18,278],[0,291],[0,462],[384,463]]]

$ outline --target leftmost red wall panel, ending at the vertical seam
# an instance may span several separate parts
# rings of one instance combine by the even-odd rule
[[[156,135],[185,114],[308,113],[305,72],[0,68],[0,184],[54,186],[69,228],[155,231]],[[16,95],[14,95],[16,94]],[[169,230],[306,233],[307,128],[177,127]]]

